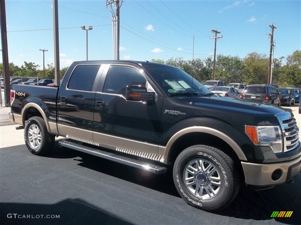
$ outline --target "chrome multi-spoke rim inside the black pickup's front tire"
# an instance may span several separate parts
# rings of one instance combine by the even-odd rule
[[[187,189],[200,199],[214,198],[221,188],[219,171],[204,159],[194,159],[186,164],[183,178]]]

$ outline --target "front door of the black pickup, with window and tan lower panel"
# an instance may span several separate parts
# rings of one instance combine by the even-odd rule
[[[122,152],[158,153],[162,97],[156,103],[127,101],[126,86],[143,85],[155,91],[141,69],[131,65],[107,65],[95,96],[93,141]],[[156,91],[155,91],[156,92]]]

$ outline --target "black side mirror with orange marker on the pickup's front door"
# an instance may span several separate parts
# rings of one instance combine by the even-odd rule
[[[155,92],[147,92],[145,86],[128,85],[126,86],[126,100],[130,101],[154,101]]]

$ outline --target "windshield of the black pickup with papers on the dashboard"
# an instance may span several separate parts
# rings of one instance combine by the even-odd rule
[[[172,93],[189,92],[212,95],[211,91],[179,68],[166,65],[143,65],[143,67],[168,96]]]

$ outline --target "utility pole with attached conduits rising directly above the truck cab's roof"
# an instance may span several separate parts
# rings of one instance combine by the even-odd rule
[[[110,5],[110,12],[112,13],[112,27],[113,27],[113,51],[114,51],[114,60],[119,60],[119,31],[120,31],[120,26],[119,26],[119,20],[120,20],[120,15],[119,15],[119,9],[123,3],[123,0],[106,0],[106,6],[107,9],[108,6]],[[115,8],[115,10],[113,9]]]

